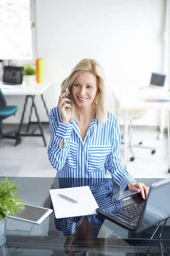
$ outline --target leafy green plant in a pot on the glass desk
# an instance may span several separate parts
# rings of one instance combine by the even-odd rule
[[[0,179],[0,246],[6,241],[6,221],[8,215],[14,215],[20,209],[24,209],[20,204],[20,196],[17,192],[17,183],[12,180]]]

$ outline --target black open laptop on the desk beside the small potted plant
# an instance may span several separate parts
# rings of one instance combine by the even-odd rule
[[[23,67],[5,66],[3,72],[3,84],[16,85],[23,82]]]

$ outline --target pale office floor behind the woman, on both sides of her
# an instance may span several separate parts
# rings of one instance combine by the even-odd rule
[[[8,130],[8,125],[5,126]],[[121,132],[123,128],[121,127]],[[127,170],[135,178],[167,178],[168,146],[167,134],[163,140],[158,140],[159,131],[150,127],[135,127],[133,129],[133,143],[143,141],[143,145],[156,147],[156,153],[150,149],[133,148],[136,159],[130,162],[128,151]],[[47,143],[50,140],[50,131],[45,128]],[[123,145],[121,157],[123,161]],[[0,176],[27,176],[27,177],[55,177],[56,171],[48,161],[47,148],[44,147],[41,137],[23,137],[22,143],[14,147],[14,140],[0,140]]]

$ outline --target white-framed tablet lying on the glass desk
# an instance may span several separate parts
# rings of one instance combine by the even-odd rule
[[[41,224],[42,221],[44,221],[45,218],[47,218],[51,212],[53,212],[52,209],[48,208],[38,207],[30,204],[23,205],[25,206],[25,209],[20,209],[20,212],[16,213],[15,215],[8,215],[8,217]]]

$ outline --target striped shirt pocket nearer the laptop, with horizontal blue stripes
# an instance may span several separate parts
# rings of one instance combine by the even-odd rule
[[[91,145],[88,153],[88,172],[104,171],[106,158],[111,153],[111,145]]]

